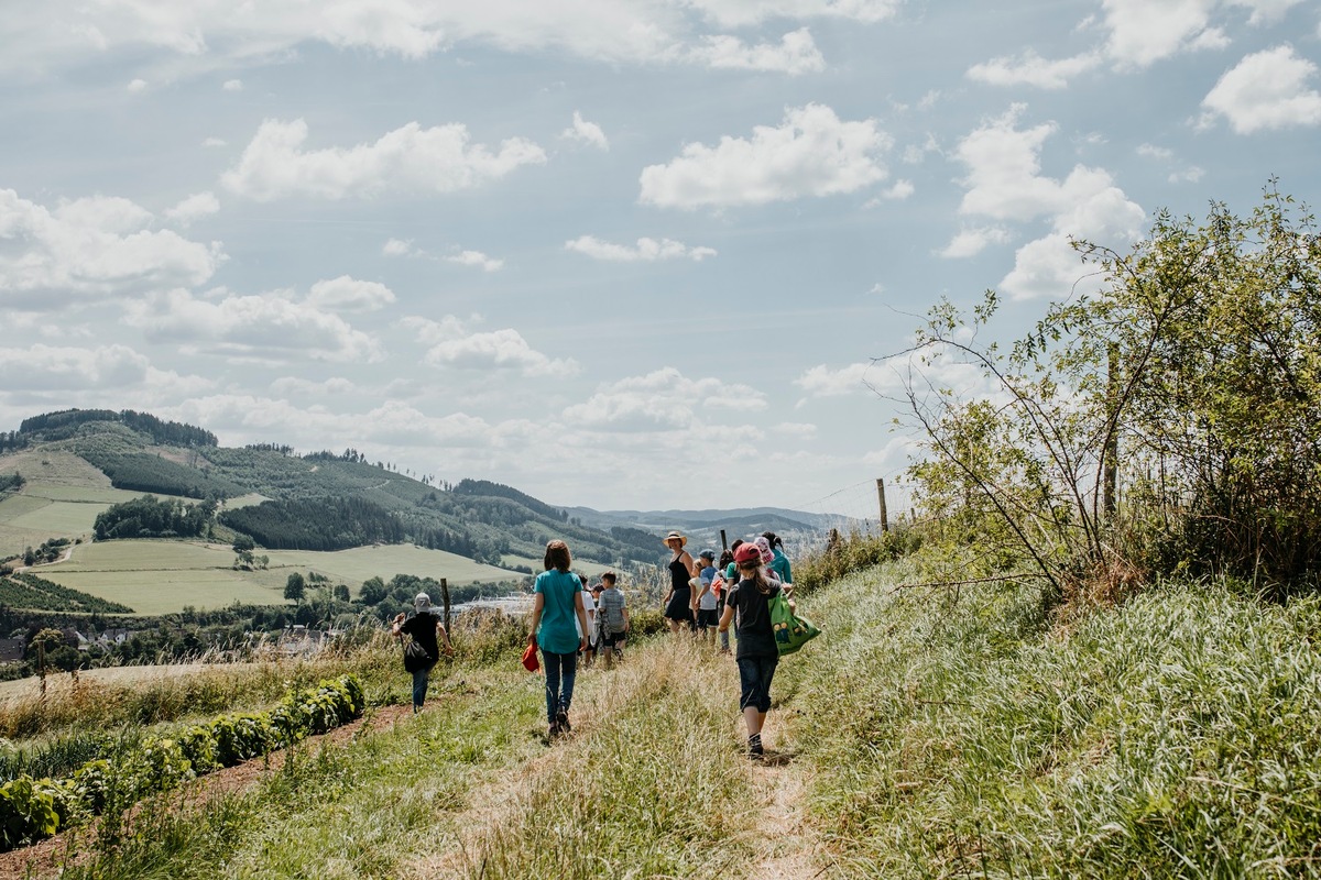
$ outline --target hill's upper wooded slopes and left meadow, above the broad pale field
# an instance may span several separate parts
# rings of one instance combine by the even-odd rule
[[[214,501],[211,529],[197,537],[248,534],[267,550],[416,545],[499,567],[510,557],[540,558],[546,541],[563,537],[576,557],[601,565],[658,555],[659,538],[571,522],[564,511],[497,483],[432,486],[354,450],[222,447],[203,429],[132,410],[37,416],[0,434],[0,475],[21,478],[0,499],[5,557],[52,537],[86,538],[98,515],[141,493]],[[263,500],[252,504],[252,496]],[[231,499],[239,503],[230,507]]]

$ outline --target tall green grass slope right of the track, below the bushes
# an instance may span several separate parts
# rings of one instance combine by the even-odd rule
[[[823,594],[786,666],[845,876],[1321,876],[1321,600],[1166,588],[1058,631],[1033,587],[901,574]]]

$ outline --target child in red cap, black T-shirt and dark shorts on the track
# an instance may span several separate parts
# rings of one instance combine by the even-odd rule
[[[741,579],[725,596],[720,632],[728,632],[737,615],[738,625],[734,632],[738,636],[738,649],[734,658],[738,661],[738,707],[748,726],[748,757],[761,760],[761,731],[766,724],[766,712],[770,711],[770,681],[779,662],[769,602],[781,586],[762,571],[761,551],[756,544],[741,545],[734,553],[734,565],[738,566]]]

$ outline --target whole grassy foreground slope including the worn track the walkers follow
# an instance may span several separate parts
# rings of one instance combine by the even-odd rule
[[[777,673],[783,767],[740,757],[728,658],[660,640],[584,673],[547,751],[510,653],[66,876],[1318,873],[1321,602],[1166,588],[1061,631],[1030,588],[890,592],[902,577],[803,602],[826,635]]]

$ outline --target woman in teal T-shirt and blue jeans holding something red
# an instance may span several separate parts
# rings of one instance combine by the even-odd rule
[[[573,730],[569,706],[573,702],[577,652],[587,648],[587,639],[581,635],[588,631],[583,582],[569,571],[572,565],[569,546],[563,541],[551,541],[546,545],[546,571],[536,575],[532,587],[532,627],[527,641],[542,649],[547,739]]]

